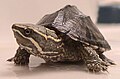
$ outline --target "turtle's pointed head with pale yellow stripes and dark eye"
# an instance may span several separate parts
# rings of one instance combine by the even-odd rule
[[[13,24],[12,30],[20,48],[35,54],[44,49],[46,30],[43,26],[33,24]]]

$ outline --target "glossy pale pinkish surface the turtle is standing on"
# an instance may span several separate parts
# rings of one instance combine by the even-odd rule
[[[105,55],[117,65],[107,72],[92,74],[84,65],[46,65],[40,58],[31,56],[29,67],[15,66],[6,60],[15,54],[14,43],[0,45],[0,79],[119,79],[120,78],[120,27],[119,25],[98,25],[100,31],[112,46]],[[105,27],[110,26],[110,27]]]

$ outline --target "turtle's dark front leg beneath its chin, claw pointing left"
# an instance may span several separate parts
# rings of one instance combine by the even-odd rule
[[[20,47],[17,49],[17,52],[13,58],[8,59],[7,61],[14,61],[16,65],[28,65],[30,54]]]

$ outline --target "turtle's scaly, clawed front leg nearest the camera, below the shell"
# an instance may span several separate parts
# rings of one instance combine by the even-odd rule
[[[108,64],[99,58],[99,55],[89,46],[84,46],[82,50],[82,59],[87,68],[92,72],[107,71]]]

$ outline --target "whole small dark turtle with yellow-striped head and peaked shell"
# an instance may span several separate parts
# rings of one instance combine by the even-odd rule
[[[46,63],[82,60],[92,72],[107,71],[115,64],[103,54],[111,49],[108,42],[90,17],[75,6],[45,15],[37,24],[15,23],[12,30],[19,47],[8,61],[16,65],[28,65],[30,55]]]

